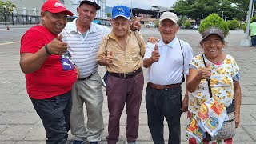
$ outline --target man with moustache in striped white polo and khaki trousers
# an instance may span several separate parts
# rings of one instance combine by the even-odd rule
[[[101,141],[104,124],[102,116],[102,81],[97,72],[98,62],[96,54],[102,42],[102,38],[110,33],[106,26],[93,22],[96,11],[101,7],[94,0],[80,2],[77,12],[78,18],[69,22],[62,30],[62,41],[67,42],[72,61],[80,70],[80,77],[74,84],[73,106],[70,115],[71,134],[76,137],[74,144]],[[140,25],[138,22],[132,25],[133,30]],[[83,103],[87,110],[87,127],[85,126]]]

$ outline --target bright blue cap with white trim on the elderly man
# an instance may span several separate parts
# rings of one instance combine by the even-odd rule
[[[130,9],[129,7],[126,6],[114,6],[112,9],[112,19],[117,18],[117,17],[123,17],[128,20],[130,20]]]

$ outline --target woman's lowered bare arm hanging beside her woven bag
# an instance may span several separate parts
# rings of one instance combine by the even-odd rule
[[[241,107],[241,86],[240,83],[234,81],[234,117],[235,117],[235,127],[237,128],[240,123],[240,107]]]

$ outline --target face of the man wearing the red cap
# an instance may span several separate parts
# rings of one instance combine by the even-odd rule
[[[66,26],[66,12],[50,13],[42,12],[42,25],[46,27],[52,34],[60,34]]]

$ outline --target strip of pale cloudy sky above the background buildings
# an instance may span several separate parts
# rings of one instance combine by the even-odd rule
[[[106,0],[106,6],[124,5],[133,8],[150,9],[151,6],[171,7],[177,0]]]

